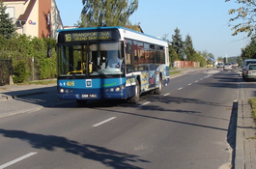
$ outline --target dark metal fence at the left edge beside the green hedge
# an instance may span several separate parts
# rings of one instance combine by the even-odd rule
[[[10,75],[13,73],[13,61],[0,59],[0,86],[10,84]]]

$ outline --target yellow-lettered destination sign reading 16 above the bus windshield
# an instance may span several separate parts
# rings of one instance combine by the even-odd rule
[[[65,42],[83,42],[97,40],[112,40],[112,32],[84,32],[65,34]]]

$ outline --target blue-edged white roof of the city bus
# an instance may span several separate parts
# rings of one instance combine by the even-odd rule
[[[72,29],[61,29],[58,30],[57,32],[70,32],[70,31],[95,31],[95,30],[109,30],[109,29],[118,29],[120,32],[121,40],[124,40],[124,38],[132,39],[132,40],[138,40],[138,41],[143,41],[143,42],[157,42],[161,43],[161,45],[166,46],[167,42],[156,38],[154,36],[150,36],[144,33],[140,33],[125,27],[121,26],[112,26],[112,27],[87,27],[87,28],[72,28]],[[123,30],[123,31],[121,31]],[[166,46],[167,47],[167,46]]]

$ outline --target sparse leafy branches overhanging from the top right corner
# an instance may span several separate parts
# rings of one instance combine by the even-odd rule
[[[230,0],[225,0],[225,2],[229,2]],[[232,30],[234,30],[233,36],[238,35],[239,33],[246,32],[247,37],[251,37],[255,35],[255,16],[256,16],[256,2],[254,0],[236,0],[236,3],[242,4],[242,7],[239,9],[231,9],[229,10],[229,14],[236,14],[235,17],[229,19],[230,22],[242,19],[242,23],[238,23],[235,25],[229,24],[229,26],[233,26]]]

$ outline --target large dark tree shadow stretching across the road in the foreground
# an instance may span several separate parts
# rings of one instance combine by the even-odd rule
[[[60,148],[66,153],[79,155],[86,159],[101,162],[106,167],[111,168],[131,168],[141,169],[131,163],[150,161],[141,159],[138,155],[128,155],[125,153],[116,152],[100,146],[81,144],[79,142],[69,140],[65,137],[55,135],[43,135],[39,133],[29,133],[22,130],[1,129],[0,134],[6,138],[13,138],[25,141],[35,149],[43,149],[53,152]],[[86,167],[85,167],[86,168]]]

